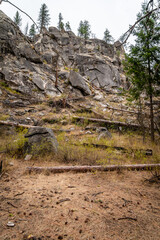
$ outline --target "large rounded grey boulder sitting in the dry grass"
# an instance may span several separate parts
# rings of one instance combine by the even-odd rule
[[[24,150],[27,154],[47,154],[57,152],[58,143],[52,129],[31,127],[25,135],[27,139]]]

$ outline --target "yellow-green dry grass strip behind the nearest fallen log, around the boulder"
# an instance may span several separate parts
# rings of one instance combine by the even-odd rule
[[[78,133],[78,134],[77,134]],[[76,134],[76,135],[75,135]],[[6,152],[6,156],[24,158],[24,133],[15,133],[12,137],[2,135],[0,138],[0,151]],[[55,154],[35,155],[37,161],[52,161],[72,165],[97,165],[97,164],[135,164],[135,163],[159,163],[159,144],[151,143],[149,138],[143,143],[142,136],[136,133],[118,135],[112,133],[112,139],[102,138],[98,140],[97,134],[82,135],[79,128],[71,133],[57,133],[59,143],[58,152]],[[87,143],[87,146],[84,146]],[[106,149],[96,145],[107,146]],[[114,147],[123,147],[125,152]],[[146,156],[146,149],[152,149],[153,155]]]

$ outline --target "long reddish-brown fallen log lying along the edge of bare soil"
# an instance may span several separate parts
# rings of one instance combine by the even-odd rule
[[[64,173],[76,172],[85,173],[93,171],[148,171],[153,169],[160,169],[160,164],[136,164],[136,165],[108,165],[108,166],[61,166],[61,167],[27,167],[28,173]]]

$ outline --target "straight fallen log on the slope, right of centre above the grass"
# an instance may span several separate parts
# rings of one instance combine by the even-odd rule
[[[106,124],[106,125],[115,125],[117,127],[127,127],[127,128],[134,128],[134,129],[140,129],[142,128],[141,125],[136,124],[136,123],[125,123],[125,122],[118,122],[118,121],[110,121],[106,119],[97,119],[97,118],[86,118],[86,117],[79,117],[79,116],[74,116],[74,120],[79,120],[79,121],[88,121],[88,122],[95,122],[95,123],[100,123],[100,124]],[[145,127],[148,128],[148,127]]]

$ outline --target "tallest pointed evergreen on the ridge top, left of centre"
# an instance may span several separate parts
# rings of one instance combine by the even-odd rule
[[[40,11],[39,11],[39,17],[38,17],[38,25],[40,28],[40,32],[42,31],[43,27],[48,27],[50,23],[50,15],[48,7],[45,3],[41,5]]]

